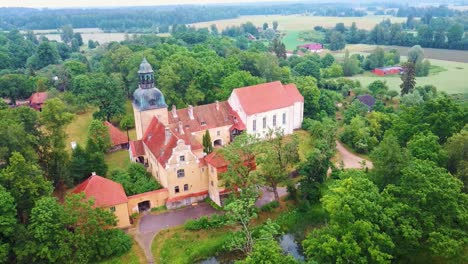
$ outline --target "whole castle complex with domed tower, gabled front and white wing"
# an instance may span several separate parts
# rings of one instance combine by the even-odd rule
[[[217,148],[242,132],[263,138],[270,128],[282,128],[292,134],[303,121],[304,98],[294,84],[277,81],[243,87],[235,89],[227,101],[168,109],[146,59],[138,74],[139,87],[133,94],[137,140],[130,142],[130,158],[145,164],[167,189],[168,208],[206,197],[221,205],[220,196],[226,190],[218,173],[227,164],[216,152],[203,152],[206,131]]]

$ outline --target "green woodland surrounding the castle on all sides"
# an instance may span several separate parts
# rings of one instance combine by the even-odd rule
[[[27,27],[26,17],[15,26]],[[467,262],[468,106],[440,87],[418,85],[416,76],[429,67],[420,46],[407,58],[380,48],[344,58],[288,57],[274,25],[273,38],[257,41],[179,21],[169,37],[147,34],[85,47],[72,27],[53,23],[61,27],[62,42],[32,32],[0,33],[0,263],[96,263],[132,250],[129,234],[109,228],[116,224],[111,212],[65,194],[93,171],[122,183],[127,194],[160,188],[142,166],[123,170],[104,161],[109,139],[102,121],[123,129],[133,124],[125,104],[137,88],[142,58],[153,66],[166,103],[177,108],[226,100],[235,88],[277,80],[294,83],[304,97],[303,129],[296,135],[272,131],[264,142],[242,135],[221,150],[231,164],[221,175],[232,191],[218,208],[224,214],[189,221],[172,237],[156,236],[162,241],[153,245],[161,249],[153,253],[161,263],[186,252],[190,259],[176,263],[223,254],[236,256],[236,263],[301,263],[283,253],[278,237],[285,232],[297,237],[308,263]],[[454,24],[446,26],[450,31]],[[262,34],[254,30],[245,24],[234,32]],[[333,30],[353,36],[342,25]],[[343,78],[397,63],[404,68],[399,91],[380,80],[364,87]],[[18,106],[39,91],[49,95],[41,112]],[[372,95],[375,105],[356,100],[359,95]],[[86,111],[94,119],[86,143],[71,151],[65,128]],[[336,162],[337,139],[366,155],[373,168]],[[239,158],[252,156],[256,171]],[[275,195],[258,209],[258,186],[286,188],[287,196]],[[178,243],[171,248],[172,241]],[[187,249],[193,241],[197,245]],[[180,248],[187,250],[178,254]]]

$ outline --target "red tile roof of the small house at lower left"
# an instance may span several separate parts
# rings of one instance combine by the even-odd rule
[[[120,183],[98,175],[92,175],[73,189],[72,193],[84,192],[86,198],[94,198],[94,206],[108,207],[128,201]]]

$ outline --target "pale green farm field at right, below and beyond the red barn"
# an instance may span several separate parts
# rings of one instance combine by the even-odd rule
[[[425,51],[426,49],[424,49]],[[402,61],[406,58],[402,57]],[[427,77],[417,77],[416,85],[429,85],[432,84],[437,87],[439,91],[444,91],[448,94],[461,94],[468,93],[468,63],[453,62],[445,60],[431,59],[431,64],[434,66],[442,67],[442,71],[431,73]],[[439,68],[440,69],[440,68]],[[399,75],[391,76],[377,76],[370,72],[349,77],[352,80],[358,80],[363,87],[368,86],[376,80],[384,80],[387,82],[391,90],[400,90],[401,79]]]

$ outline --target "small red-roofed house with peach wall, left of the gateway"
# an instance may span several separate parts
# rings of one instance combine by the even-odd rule
[[[111,181],[95,173],[73,189],[72,193],[84,193],[86,198],[94,199],[94,206],[107,208],[118,219],[117,227],[130,226],[128,198],[120,183]]]

